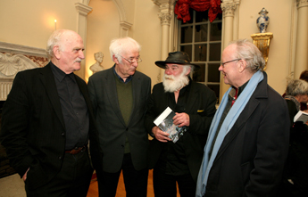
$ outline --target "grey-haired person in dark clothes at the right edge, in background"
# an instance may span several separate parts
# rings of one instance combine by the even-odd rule
[[[301,79],[290,80],[287,83],[285,99],[291,122],[290,143],[277,196],[308,196],[308,123],[294,122],[297,112],[300,111],[300,104],[308,102],[308,83]]]

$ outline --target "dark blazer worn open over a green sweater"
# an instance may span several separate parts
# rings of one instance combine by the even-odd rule
[[[112,68],[95,73],[87,83],[99,133],[96,170],[114,173],[121,169],[124,144],[129,138],[131,160],[137,170],[146,168],[148,136],[145,128],[146,100],[151,94],[151,79],[136,71],[132,78],[133,107],[126,126],[118,102]]]

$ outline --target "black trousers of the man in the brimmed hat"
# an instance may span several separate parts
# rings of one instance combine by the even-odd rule
[[[172,176],[167,175],[159,168],[154,168],[153,185],[155,197],[176,197],[177,182],[181,197],[196,196],[196,182],[190,174],[184,176]]]

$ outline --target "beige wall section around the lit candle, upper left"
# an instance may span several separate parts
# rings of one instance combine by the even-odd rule
[[[77,30],[75,2],[78,0],[0,1],[0,41],[46,48],[54,20],[57,29]]]

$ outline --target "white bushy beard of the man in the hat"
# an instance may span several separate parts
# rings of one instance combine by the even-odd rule
[[[164,87],[164,92],[170,92],[174,93],[178,90],[180,90],[183,86],[187,86],[189,83],[189,78],[187,75],[185,75],[186,70],[183,70],[183,72],[178,76],[174,77],[173,75],[167,75],[164,73],[162,85]]]

